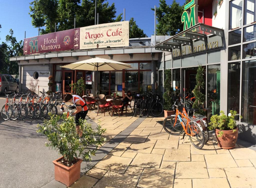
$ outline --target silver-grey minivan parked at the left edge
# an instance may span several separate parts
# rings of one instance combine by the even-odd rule
[[[18,92],[17,81],[10,74],[0,74],[0,93]]]

